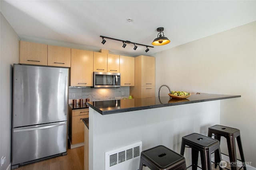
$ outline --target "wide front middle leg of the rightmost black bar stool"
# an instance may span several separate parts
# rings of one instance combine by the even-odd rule
[[[227,138],[230,163],[236,162],[236,141],[233,136]],[[231,166],[231,170],[237,170],[237,166]]]

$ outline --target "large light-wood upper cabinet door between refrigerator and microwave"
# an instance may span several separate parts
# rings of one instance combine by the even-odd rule
[[[93,51],[71,49],[70,86],[93,86]]]

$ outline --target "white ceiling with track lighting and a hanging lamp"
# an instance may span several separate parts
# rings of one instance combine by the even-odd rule
[[[130,56],[256,21],[256,0],[0,0],[0,10],[22,40]],[[171,43],[148,53],[133,44],[124,49],[120,41],[101,43],[103,35],[151,45],[158,27]]]

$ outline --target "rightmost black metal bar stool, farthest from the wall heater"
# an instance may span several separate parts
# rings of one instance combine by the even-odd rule
[[[240,152],[241,161],[243,165],[241,168],[244,168],[244,170],[246,170],[244,152],[243,152],[242,141],[240,137],[240,130],[232,127],[222,126],[222,125],[214,125],[208,128],[208,137],[212,137],[212,134],[214,134],[214,138],[218,139],[218,141],[220,141],[220,137],[222,136],[226,138],[227,144],[228,144],[228,154],[229,154],[228,156],[229,156],[230,162],[237,162],[238,160],[236,158],[236,141],[237,141],[238,149]],[[237,170],[237,164],[232,165],[230,168],[231,170]]]

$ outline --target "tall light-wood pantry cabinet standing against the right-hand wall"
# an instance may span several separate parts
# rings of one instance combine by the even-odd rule
[[[140,55],[135,57],[135,82],[130,87],[133,98],[155,97],[155,57]]]

